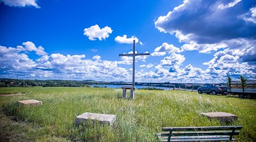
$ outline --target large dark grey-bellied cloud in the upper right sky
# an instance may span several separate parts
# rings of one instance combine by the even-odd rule
[[[245,53],[243,58],[255,55],[255,11],[256,1],[186,0],[167,15],[159,16],[155,27],[185,43],[183,51],[252,48],[253,53]]]

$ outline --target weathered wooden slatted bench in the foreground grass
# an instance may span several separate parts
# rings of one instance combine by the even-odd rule
[[[242,126],[163,127],[156,133],[157,141],[234,141]]]

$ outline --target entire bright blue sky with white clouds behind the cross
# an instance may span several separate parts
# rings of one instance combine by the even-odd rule
[[[226,82],[256,78],[256,2],[0,0],[0,78]]]

